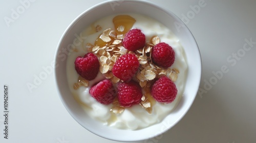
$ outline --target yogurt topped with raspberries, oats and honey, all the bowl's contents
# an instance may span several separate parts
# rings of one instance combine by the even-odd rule
[[[186,54],[161,22],[142,14],[113,14],[81,35],[86,38],[67,58],[67,80],[85,114],[116,129],[139,130],[163,121],[179,104]]]

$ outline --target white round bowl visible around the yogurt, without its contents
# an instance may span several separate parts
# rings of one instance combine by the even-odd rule
[[[150,16],[163,23],[180,39],[186,53],[188,73],[184,96],[171,115],[153,126],[140,130],[120,130],[102,125],[88,116],[69,90],[66,63],[69,44],[73,43],[75,35],[80,33],[92,21],[117,13],[138,13]],[[182,26],[182,27],[181,27]],[[79,34],[78,34],[79,35]],[[77,36],[77,35],[76,35]],[[55,79],[57,90],[63,105],[71,116],[84,128],[104,138],[116,141],[138,141],[158,136],[177,124],[186,114],[196,97],[201,80],[201,56],[193,35],[185,24],[172,12],[147,1],[107,1],[100,3],[80,14],[63,33],[55,54]]]

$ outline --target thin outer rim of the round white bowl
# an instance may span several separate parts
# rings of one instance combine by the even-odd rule
[[[61,35],[61,38],[60,38],[60,40],[59,40],[59,42],[58,42],[57,49],[56,49],[56,52],[55,52],[55,55],[54,55],[54,63],[55,63],[55,64],[54,64],[54,79],[55,79],[55,85],[56,85],[56,87],[57,87],[57,93],[58,93],[58,96],[59,96],[59,98],[60,98],[62,104],[65,106],[65,108],[67,109],[67,111],[69,112],[69,114],[75,119],[75,121],[76,121],[77,123],[79,123],[83,128],[87,129],[88,131],[90,131],[90,132],[92,132],[92,133],[94,133],[94,134],[96,134],[96,135],[98,135],[98,136],[100,136],[100,137],[103,137],[103,138],[106,138],[106,139],[110,139],[110,140],[115,140],[115,141],[140,141],[140,140],[145,140],[145,139],[148,139],[148,138],[153,138],[153,137],[156,137],[156,136],[158,136],[158,135],[160,135],[160,134],[166,132],[167,130],[169,130],[169,129],[172,128],[173,126],[175,126],[175,125],[181,120],[181,118],[184,117],[184,115],[187,113],[187,111],[190,109],[191,105],[192,105],[192,104],[194,103],[194,101],[195,101],[195,98],[196,98],[197,94],[193,95],[193,99],[189,102],[188,106],[186,106],[187,108],[184,110],[183,114],[181,114],[180,117],[178,118],[178,120],[177,120],[176,122],[174,122],[174,124],[173,124],[172,126],[170,126],[169,128],[166,128],[165,130],[163,130],[163,131],[161,131],[161,132],[155,134],[154,136],[150,136],[150,137],[148,137],[148,138],[145,138],[145,137],[144,137],[144,138],[141,138],[141,137],[140,137],[140,138],[137,138],[137,139],[130,138],[130,139],[126,139],[126,140],[122,140],[122,139],[120,139],[120,138],[117,139],[117,138],[111,138],[111,137],[108,137],[108,136],[102,136],[102,135],[99,135],[98,133],[93,132],[93,131],[89,130],[88,128],[84,127],[84,125],[82,125],[80,122],[78,122],[78,118],[77,118],[76,115],[71,111],[71,109],[68,108],[67,102],[66,102],[66,101],[63,99],[63,97],[61,96],[61,92],[60,92],[61,89],[59,88],[59,83],[58,83],[58,80],[57,80],[57,79],[58,79],[58,78],[57,78],[58,73],[57,73],[57,70],[56,70],[56,69],[57,69],[57,67],[58,67],[58,64],[57,64],[58,52],[59,52],[59,50],[61,49],[61,44],[62,44],[63,40],[66,38],[67,34],[68,34],[69,31],[73,28],[73,26],[75,25],[75,23],[78,22],[86,13],[92,11],[92,10],[95,9],[95,8],[98,8],[98,7],[101,7],[101,6],[103,6],[103,5],[109,4],[110,2],[114,2],[114,3],[116,2],[116,3],[118,3],[118,2],[120,2],[120,0],[104,1],[104,2],[98,3],[98,4],[96,4],[96,5],[92,6],[92,7],[90,7],[89,9],[83,11],[81,14],[79,14],[79,15],[70,23],[70,25],[67,27],[67,29],[65,30],[65,32]],[[195,85],[194,85],[194,87],[195,87],[195,88],[197,89],[197,91],[198,91],[199,86],[200,86],[200,81],[201,81],[201,78],[202,78],[202,58],[201,58],[201,53],[200,53],[200,50],[199,50],[199,46],[198,46],[198,44],[197,44],[197,41],[196,41],[194,35],[191,33],[191,31],[190,31],[190,30],[188,29],[188,27],[185,25],[185,23],[184,23],[177,15],[175,15],[173,12],[171,12],[171,11],[169,11],[168,9],[166,9],[166,8],[160,6],[160,5],[157,5],[157,4],[153,3],[153,2],[148,2],[148,1],[145,1],[145,0],[125,0],[125,1],[122,1],[122,3],[144,3],[144,4],[146,4],[146,5],[149,5],[149,6],[151,6],[151,7],[155,7],[155,8],[157,8],[157,9],[159,9],[159,10],[165,12],[166,14],[168,14],[168,15],[174,17],[176,20],[178,20],[179,22],[181,22],[181,23],[184,24],[184,28],[185,28],[186,30],[188,30],[188,32],[189,32],[190,35],[192,36],[191,38],[193,38],[193,41],[195,42],[195,44],[196,44],[196,46],[197,46],[197,48],[195,48],[195,50],[197,50],[196,52],[198,52],[198,54],[199,54],[199,57],[198,57],[198,58],[200,58],[200,59],[199,59],[199,60],[200,60],[200,63],[198,63],[198,68],[200,68],[200,73],[198,73],[198,74],[200,74],[200,78],[199,78],[197,81],[195,81]],[[188,69],[188,70],[189,70],[189,69]]]

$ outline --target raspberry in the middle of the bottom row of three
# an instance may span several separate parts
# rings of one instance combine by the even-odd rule
[[[142,98],[142,91],[136,82],[121,82],[118,84],[117,90],[118,101],[121,106],[131,107],[132,105],[140,103]]]

